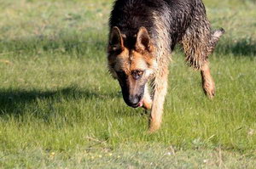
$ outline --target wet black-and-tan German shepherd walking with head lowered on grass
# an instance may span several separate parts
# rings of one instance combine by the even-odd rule
[[[201,70],[207,96],[214,96],[208,56],[224,29],[211,31],[210,26],[201,0],[116,0],[113,3],[108,70],[119,81],[126,104],[151,110],[150,132],[160,128],[168,64],[176,44],[182,46],[188,65]]]

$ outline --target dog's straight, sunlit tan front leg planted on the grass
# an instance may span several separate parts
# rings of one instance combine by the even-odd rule
[[[167,93],[168,67],[161,69],[154,78],[154,99],[152,104],[149,132],[160,128],[162,121],[163,106]]]

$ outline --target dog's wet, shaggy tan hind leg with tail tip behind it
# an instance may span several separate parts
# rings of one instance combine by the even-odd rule
[[[210,99],[215,95],[215,85],[210,73],[208,56],[212,54],[223,33],[223,29],[211,32],[207,20],[197,20],[189,27],[182,39],[186,61],[195,70],[201,70],[202,87]]]

